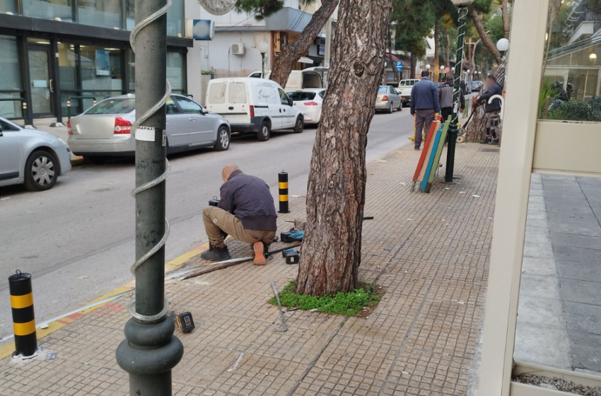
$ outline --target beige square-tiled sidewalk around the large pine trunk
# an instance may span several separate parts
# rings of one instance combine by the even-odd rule
[[[174,395],[465,395],[488,279],[498,149],[457,145],[463,179],[437,183],[430,194],[411,191],[419,154],[407,147],[368,165],[366,215],[375,219],[364,222],[360,273],[385,295],[367,318],[296,310],[286,315],[289,330],[275,332],[269,282],[281,289],[297,272],[281,255],[266,267],[168,281],[170,308],[189,310],[197,324],[177,334],[185,354],[173,371]],[[293,204],[281,230],[303,216],[303,198]],[[185,267],[197,265],[206,264]],[[127,395],[115,349],[130,300],[42,339],[57,359],[0,361],[0,395]]]

